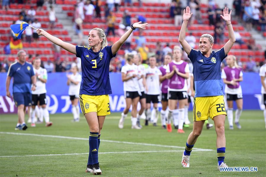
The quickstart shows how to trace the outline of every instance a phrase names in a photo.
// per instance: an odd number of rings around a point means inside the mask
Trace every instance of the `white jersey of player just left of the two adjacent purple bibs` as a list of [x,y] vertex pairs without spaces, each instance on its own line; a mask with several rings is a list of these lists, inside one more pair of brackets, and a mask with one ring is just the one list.
[[157,68],[150,66],[145,69],[146,85],[148,87],[148,95],[159,95],[161,93],[159,76],[162,72]]

